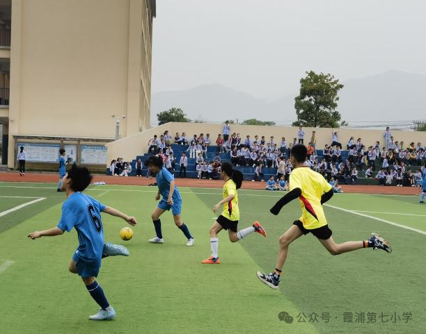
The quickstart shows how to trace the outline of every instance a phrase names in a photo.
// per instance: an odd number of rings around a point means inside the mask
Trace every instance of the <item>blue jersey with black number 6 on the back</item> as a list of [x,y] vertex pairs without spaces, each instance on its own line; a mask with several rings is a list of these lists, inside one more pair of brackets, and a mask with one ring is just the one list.
[[90,196],[74,192],[63,202],[58,228],[70,232],[74,227],[79,237],[79,247],[74,256],[100,267],[104,249],[104,229],[100,212],[105,206]]

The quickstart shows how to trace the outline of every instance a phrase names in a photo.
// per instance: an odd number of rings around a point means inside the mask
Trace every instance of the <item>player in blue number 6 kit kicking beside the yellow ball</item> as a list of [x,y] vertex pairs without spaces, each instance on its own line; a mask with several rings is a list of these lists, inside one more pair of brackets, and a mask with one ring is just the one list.
[[[102,258],[114,255],[129,255],[123,246],[104,244],[104,228],[102,226],[101,212],[123,218],[130,225],[136,225],[136,219],[124,213],[104,206],[82,191],[90,184],[92,176],[86,167],[72,165],[72,168],[63,177],[62,190],[67,194],[67,200],[62,206],[62,216],[58,226],[45,231],[35,231],[28,237],[53,237],[61,235],[64,231],[70,232],[74,227],[79,237],[79,247],[68,269],[73,274],[79,274],[90,296],[100,306],[96,315],[91,315],[90,320],[109,320],[116,317],[116,311],[111,307],[105,297],[102,287],[97,283]],[[127,253],[125,252],[127,251]]]

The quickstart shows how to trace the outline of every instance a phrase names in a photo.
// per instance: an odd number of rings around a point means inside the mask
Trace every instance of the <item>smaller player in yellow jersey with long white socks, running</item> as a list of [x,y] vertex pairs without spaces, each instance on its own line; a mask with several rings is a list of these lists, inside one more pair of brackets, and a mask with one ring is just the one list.
[[223,212],[217,217],[216,222],[214,222],[210,228],[210,247],[212,248],[212,256],[201,261],[201,263],[206,265],[220,263],[219,256],[217,255],[217,249],[219,248],[217,234],[223,229],[228,230],[230,242],[238,242],[253,232],[260,233],[264,237],[267,235],[258,222],[255,222],[253,226],[243,228],[237,232],[239,221],[237,189],[241,187],[244,176],[242,172],[235,170],[230,162],[222,162],[221,177],[223,181],[225,181],[223,185],[223,199],[214,206],[213,212],[216,212],[220,206],[223,206]]

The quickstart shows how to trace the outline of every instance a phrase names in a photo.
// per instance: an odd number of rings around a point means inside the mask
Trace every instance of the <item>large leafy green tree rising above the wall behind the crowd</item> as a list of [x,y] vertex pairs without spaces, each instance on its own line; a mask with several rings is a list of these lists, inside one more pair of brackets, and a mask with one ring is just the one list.
[[293,126],[320,128],[338,128],[345,126],[340,122],[342,116],[338,107],[338,92],[343,88],[338,79],[331,74],[306,72],[300,79],[300,94],[294,98],[297,121]]

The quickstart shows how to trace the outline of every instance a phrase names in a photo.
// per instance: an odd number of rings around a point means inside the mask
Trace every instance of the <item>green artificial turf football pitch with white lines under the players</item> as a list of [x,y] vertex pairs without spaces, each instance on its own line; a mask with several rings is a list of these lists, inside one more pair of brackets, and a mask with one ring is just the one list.
[[[299,203],[274,216],[269,208],[283,193],[239,190],[239,228],[258,220],[268,236],[253,233],[231,244],[219,234],[221,265],[209,266],[200,260],[210,256],[212,206],[221,190],[180,190],[194,247],[185,246],[167,213],[161,217],[165,243],[147,242],[155,235],[156,187],[94,185],[86,191],[139,222],[134,238],[123,242],[118,231],[125,222],[103,216],[106,241],[125,244],[131,255],[102,262],[98,281],[117,318],[90,322],[97,305],[68,272],[77,234],[26,237],[56,226],[65,195],[52,183],[0,183],[0,333],[424,333],[426,206],[418,197],[336,194],[325,207],[334,240],[365,240],[374,231],[393,253],[361,249],[330,256],[307,235],[290,246],[280,289],[271,290],[255,273],[274,269],[278,237],[299,218]],[[280,312],[293,322],[281,322]]]

